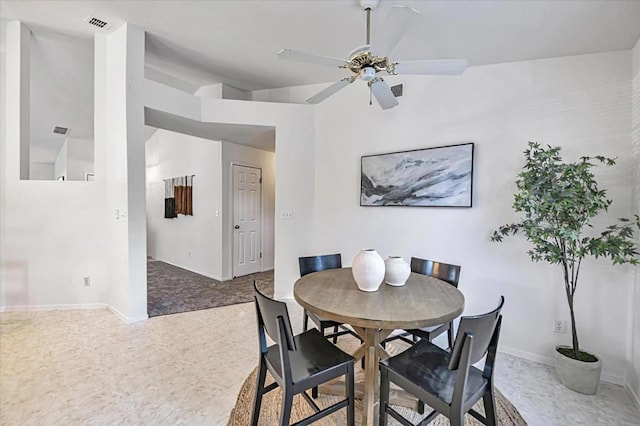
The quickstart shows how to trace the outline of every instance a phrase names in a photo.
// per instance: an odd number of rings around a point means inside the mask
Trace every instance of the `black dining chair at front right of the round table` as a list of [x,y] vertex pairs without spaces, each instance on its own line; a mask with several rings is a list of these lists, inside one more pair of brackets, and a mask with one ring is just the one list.
[[[500,337],[504,297],[491,312],[460,318],[451,352],[420,340],[411,348],[380,362],[380,426],[390,415],[404,426],[413,426],[389,403],[389,386],[394,383],[430,406],[433,411],[422,424],[439,414],[452,426],[464,425],[468,412],[485,425],[497,425],[493,371]],[[473,366],[485,358],[482,370]],[[482,398],[485,416],[472,407]]]

